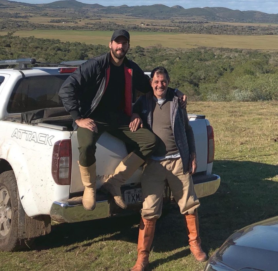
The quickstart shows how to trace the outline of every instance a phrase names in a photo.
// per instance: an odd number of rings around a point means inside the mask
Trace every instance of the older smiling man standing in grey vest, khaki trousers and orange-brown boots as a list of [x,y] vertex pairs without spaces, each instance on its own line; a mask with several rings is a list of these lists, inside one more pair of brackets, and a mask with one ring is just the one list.
[[141,96],[133,106],[134,120],[130,126],[137,130],[143,124],[153,131],[158,138],[158,147],[147,160],[142,173],[144,202],[139,227],[138,259],[132,271],[143,271],[149,264],[166,180],[184,216],[192,254],[200,262],[207,258],[200,246],[197,216],[200,203],[191,177],[197,169],[194,135],[186,110],[179,105],[178,97],[168,87],[169,83],[170,78],[164,67],[153,69],[150,79],[153,93]]

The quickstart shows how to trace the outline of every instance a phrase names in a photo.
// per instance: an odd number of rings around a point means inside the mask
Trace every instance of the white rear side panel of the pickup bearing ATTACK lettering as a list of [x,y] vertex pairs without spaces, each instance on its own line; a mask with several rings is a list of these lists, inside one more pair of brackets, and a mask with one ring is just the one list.
[[26,214],[49,214],[53,201],[69,196],[69,186],[54,182],[51,164],[54,142],[68,139],[70,133],[9,121],[0,121],[0,131],[4,131],[0,158],[7,160],[14,171]]

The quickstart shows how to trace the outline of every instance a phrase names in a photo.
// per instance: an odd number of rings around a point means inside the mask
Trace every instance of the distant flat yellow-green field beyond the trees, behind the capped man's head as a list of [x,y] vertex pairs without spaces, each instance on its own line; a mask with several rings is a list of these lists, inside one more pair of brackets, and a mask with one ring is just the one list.
[[[6,35],[7,32],[0,32]],[[78,41],[87,44],[108,45],[112,31],[83,31],[83,30],[21,30],[14,33],[21,37],[34,36],[44,39],[60,39],[61,41]],[[149,33],[130,32],[131,46],[148,47],[162,45],[170,48],[196,47],[227,47],[258,50],[278,50],[277,36],[235,36],[209,34],[176,34],[176,33]]]

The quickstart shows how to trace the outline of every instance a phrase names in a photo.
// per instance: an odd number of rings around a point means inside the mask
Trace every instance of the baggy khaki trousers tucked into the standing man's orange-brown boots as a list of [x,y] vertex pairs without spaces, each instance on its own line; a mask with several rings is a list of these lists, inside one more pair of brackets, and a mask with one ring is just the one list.
[[192,177],[184,174],[181,158],[165,161],[148,159],[142,173],[141,184],[143,208],[141,216],[145,219],[159,218],[162,211],[165,181],[168,181],[181,214],[193,214],[200,202],[195,194]]

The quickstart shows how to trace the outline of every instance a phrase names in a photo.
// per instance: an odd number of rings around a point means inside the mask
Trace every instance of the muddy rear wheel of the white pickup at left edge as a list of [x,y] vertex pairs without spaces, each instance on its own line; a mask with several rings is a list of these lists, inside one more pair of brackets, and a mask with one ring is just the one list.
[[0,250],[19,247],[17,181],[13,171],[0,174]]

